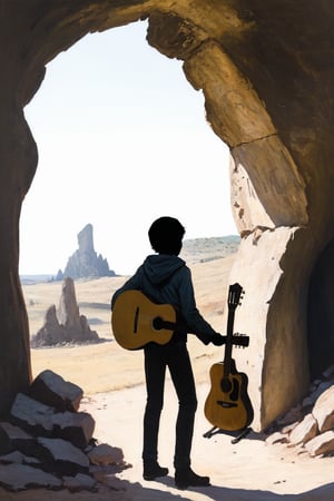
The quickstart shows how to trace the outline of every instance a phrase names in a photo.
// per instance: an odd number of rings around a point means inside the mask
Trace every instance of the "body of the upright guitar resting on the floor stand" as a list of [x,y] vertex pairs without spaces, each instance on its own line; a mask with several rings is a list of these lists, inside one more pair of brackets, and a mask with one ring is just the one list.
[[243,430],[253,421],[253,407],[247,394],[248,377],[236,371],[234,361],[226,380],[223,373],[224,362],[210,369],[212,386],[205,402],[205,416],[220,430]]

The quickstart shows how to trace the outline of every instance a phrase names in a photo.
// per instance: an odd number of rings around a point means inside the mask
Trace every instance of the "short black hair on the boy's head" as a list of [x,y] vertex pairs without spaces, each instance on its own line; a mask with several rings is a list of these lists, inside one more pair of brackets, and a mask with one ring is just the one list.
[[148,238],[154,250],[159,254],[178,255],[186,230],[174,217],[159,217],[149,230]]

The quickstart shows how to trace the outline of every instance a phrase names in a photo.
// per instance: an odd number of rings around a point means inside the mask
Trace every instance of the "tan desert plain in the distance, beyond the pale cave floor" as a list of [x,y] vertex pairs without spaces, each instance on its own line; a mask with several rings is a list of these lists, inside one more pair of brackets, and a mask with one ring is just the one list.
[[[189,252],[184,250],[185,258]],[[233,262],[233,254],[213,259],[212,248],[205,252],[193,252],[191,273],[197,305],[203,315],[217,331],[224,331],[220,325],[222,313],[226,302],[226,283]],[[187,258],[188,262],[188,258]],[[98,332],[100,344],[68,345],[32,350],[33,376],[48,367],[59,372],[62,377],[76,382],[86,394],[122,390],[144,382],[141,352],[121,350],[114,341],[110,326],[110,298],[114,292],[125,282],[126,277],[102,277],[99,279],[76,281],[76,296],[80,308],[90,324]],[[61,282],[45,282],[23,286],[27,303],[30,334],[33,335],[43,323],[47,308],[59,304]],[[189,344],[196,350],[198,342],[189,336]],[[202,346],[197,346],[203,352]],[[207,377],[206,371],[216,348],[206,347],[205,354],[195,355],[194,370],[199,382]],[[220,355],[222,356],[222,355]],[[196,370],[196,366],[198,369]],[[200,375],[202,373],[205,373]],[[89,377],[87,377],[89,375]]]

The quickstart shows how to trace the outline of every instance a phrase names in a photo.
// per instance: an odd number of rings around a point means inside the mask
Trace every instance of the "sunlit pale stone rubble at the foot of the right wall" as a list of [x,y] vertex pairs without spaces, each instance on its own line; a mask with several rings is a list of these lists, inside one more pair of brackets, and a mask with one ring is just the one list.
[[334,455],[334,365],[311,393],[268,430],[267,444],[285,443],[311,456]]

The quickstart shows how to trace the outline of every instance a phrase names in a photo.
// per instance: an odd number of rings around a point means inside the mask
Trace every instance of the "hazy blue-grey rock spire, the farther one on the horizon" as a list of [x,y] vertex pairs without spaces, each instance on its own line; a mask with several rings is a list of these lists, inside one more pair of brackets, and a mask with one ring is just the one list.
[[99,276],[115,276],[109,269],[108,261],[94,248],[92,225],[88,224],[78,233],[79,248],[69,257],[65,272],[58,272],[57,279],[63,277],[86,278]]

